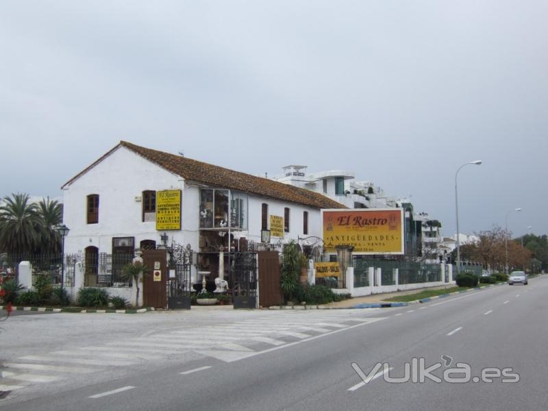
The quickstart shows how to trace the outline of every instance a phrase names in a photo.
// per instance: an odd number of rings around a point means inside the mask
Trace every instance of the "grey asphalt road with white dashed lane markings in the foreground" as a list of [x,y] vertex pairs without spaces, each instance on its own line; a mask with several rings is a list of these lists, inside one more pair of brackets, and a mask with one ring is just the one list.
[[[230,362],[173,360],[162,369],[5,403],[2,409],[545,411],[547,294],[548,277],[540,277],[528,286],[495,286],[403,308],[362,310],[364,321],[351,327],[244,353]],[[426,367],[440,363],[432,375],[442,382],[427,377],[424,383],[389,383],[380,369],[365,384],[351,365],[369,374],[382,362],[389,377],[403,378],[405,364],[421,358]],[[458,363],[460,373],[449,373],[446,380],[444,371]],[[469,364],[469,376],[461,363]],[[502,382],[504,375],[493,368],[506,369],[506,376],[517,373],[519,381]],[[493,382],[473,382],[482,370]],[[451,376],[470,381],[450,382]]]

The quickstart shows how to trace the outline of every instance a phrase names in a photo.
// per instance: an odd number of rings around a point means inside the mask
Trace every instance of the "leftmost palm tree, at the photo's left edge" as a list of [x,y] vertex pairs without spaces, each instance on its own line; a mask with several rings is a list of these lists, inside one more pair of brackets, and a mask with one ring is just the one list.
[[27,194],[4,197],[0,206],[0,249],[7,253],[35,253],[40,249],[40,217]]

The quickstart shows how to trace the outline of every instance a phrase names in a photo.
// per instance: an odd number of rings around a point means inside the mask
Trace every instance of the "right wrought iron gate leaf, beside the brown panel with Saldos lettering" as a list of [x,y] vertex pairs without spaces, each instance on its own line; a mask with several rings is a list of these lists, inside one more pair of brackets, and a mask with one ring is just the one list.
[[230,279],[234,308],[256,308],[257,253],[255,251],[232,253]]

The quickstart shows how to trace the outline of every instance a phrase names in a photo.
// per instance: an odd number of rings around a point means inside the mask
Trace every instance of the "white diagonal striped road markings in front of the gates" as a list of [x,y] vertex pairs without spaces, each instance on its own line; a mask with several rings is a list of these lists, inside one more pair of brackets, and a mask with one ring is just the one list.
[[264,316],[220,325],[174,327],[144,336],[113,339],[101,345],[60,347],[0,364],[0,391],[67,381],[77,375],[101,373],[113,367],[138,366],[152,361],[155,366],[161,366],[162,360],[173,362],[174,356],[184,353],[233,362],[382,319],[361,316],[358,310],[267,312]]

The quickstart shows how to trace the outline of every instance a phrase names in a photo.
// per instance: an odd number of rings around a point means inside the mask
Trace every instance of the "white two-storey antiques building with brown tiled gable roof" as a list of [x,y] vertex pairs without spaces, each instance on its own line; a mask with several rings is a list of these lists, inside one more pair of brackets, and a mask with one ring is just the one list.
[[[100,265],[103,255],[114,258],[175,243],[210,253],[198,270],[211,272],[213,278],[219,267],[227,269],[219,261],[220,250],[261,242],[266,230],[271,230],[271,242],[278,245],[321,236],[320,209],[343,207],[304,188],[124,141],[62,190],[64,224],[71,230],[65,251],[82,251],[88,266]],[[164,190],[180,196],[175,209],[158,208],[163,222],[171,223],[169,229],[157,226],[157,201]],[[280,225],[278,232],[271,227],[273,219]],[[195,271],[192,277],[196,278]],[[97,283],[101,279],[96,271],[86,273],[85,285]]]

